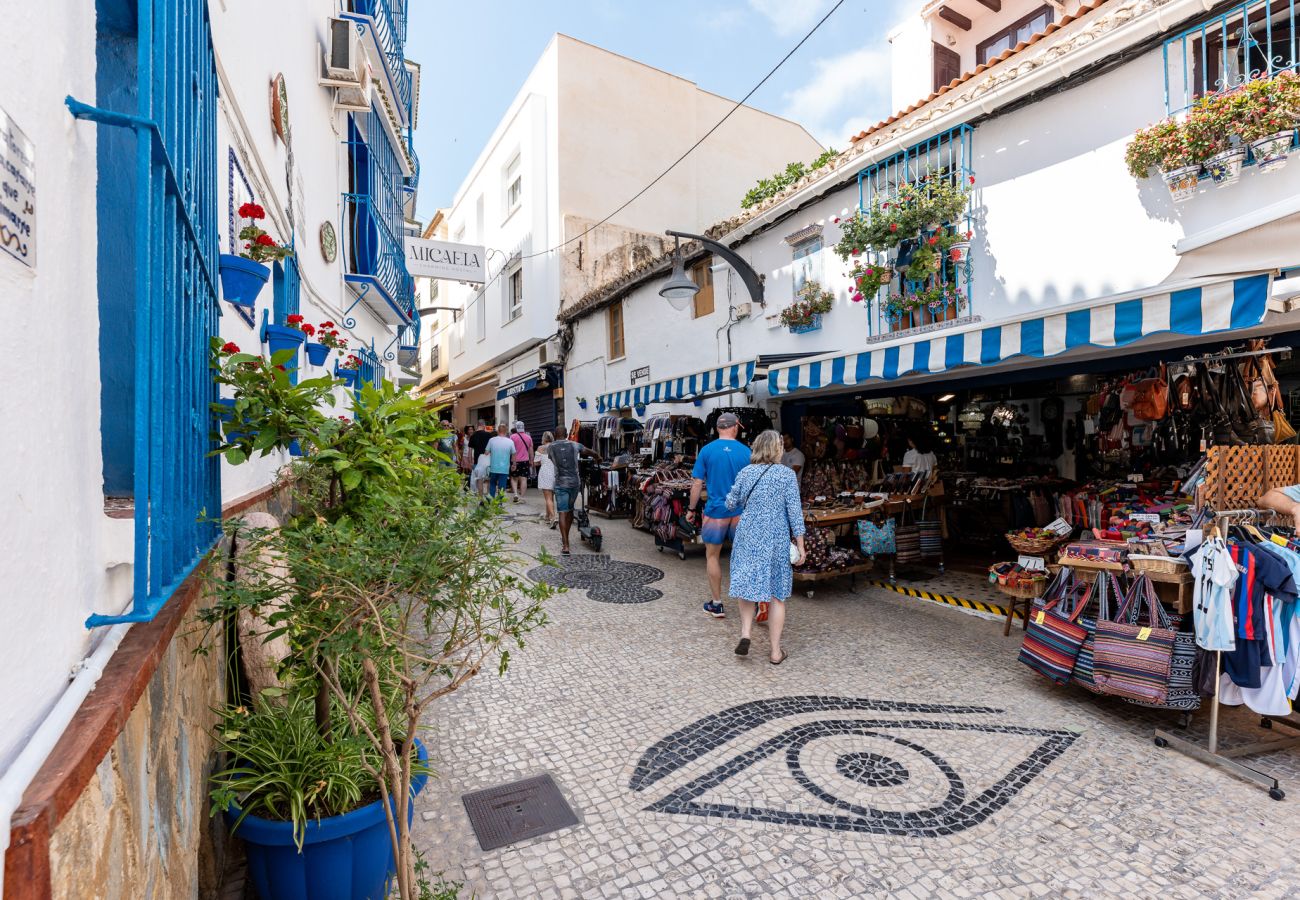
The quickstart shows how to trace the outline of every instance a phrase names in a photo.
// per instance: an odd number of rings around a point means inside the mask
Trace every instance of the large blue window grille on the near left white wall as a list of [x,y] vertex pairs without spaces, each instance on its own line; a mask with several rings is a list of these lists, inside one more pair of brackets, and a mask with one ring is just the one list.
[[217,334],[217,73],[205,0],[100,0],[96,148],[104,485],[134,501],[130,613],[152,619],[220,532],[211,433]]

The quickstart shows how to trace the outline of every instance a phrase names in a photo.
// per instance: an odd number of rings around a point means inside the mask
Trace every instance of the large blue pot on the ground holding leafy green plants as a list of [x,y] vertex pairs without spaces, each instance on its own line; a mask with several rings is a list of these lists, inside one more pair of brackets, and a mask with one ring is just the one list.
[[[421,763],[429,753],[415,743]],[[428,775],[411,779],[412,799],[424,789]],[[407,806],[407,821],[415,804]],[[239,818],[231,806],[226,819]],[[303,849],[294,844],[294,825],[248,815],[235,830],[244,841],[248,875],[257,896],[274,900],[378,900],[389,896],[389,880],[396,870],[389,839],[384,801],[307,822]]]

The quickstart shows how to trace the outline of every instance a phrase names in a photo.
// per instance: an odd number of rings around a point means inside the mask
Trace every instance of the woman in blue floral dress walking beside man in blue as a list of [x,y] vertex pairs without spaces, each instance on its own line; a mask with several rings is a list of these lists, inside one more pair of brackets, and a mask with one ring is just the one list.
[[781,649],[785,600],[790,596],[790,538],[798,545],[796,566],[803,562],[803,510],[794,470],[781,466],[781,436],[766,430],[750,447],[750,463],[727,494],[728,510],[744,510],[732,541],[731,588],[740,601],[737,655],[749,654],[749,637],[758,603],[768,602],[767,636],[774,666],[789,654]]

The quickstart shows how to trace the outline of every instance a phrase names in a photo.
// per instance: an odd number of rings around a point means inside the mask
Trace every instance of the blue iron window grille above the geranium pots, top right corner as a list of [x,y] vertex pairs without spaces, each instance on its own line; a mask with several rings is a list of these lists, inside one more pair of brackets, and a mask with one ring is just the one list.
[[1297,0],[1251,0],[1165,42],[1165,109],[1300,65]]

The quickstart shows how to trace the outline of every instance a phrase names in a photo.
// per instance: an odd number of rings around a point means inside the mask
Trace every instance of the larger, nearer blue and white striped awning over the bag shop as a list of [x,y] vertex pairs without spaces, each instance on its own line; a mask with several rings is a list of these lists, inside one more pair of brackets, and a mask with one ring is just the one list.
[[1271,274],[1197,278],[1161,291],[1136,291],[997,325],[972,325],[915,336],[870,350],[774,365],[774,397],[835,385],[890,381],[967,365],[994,365],[1015,356],[1046,359],[1076,347],[1122,347],[1160,333],[1190,337],[1253,328],[1264,321]]

